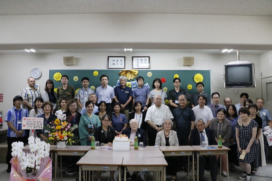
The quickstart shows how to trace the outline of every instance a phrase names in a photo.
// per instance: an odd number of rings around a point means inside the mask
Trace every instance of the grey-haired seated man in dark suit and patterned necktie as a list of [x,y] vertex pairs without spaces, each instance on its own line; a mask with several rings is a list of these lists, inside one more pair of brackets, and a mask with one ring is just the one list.
[[[206,141],[207,145],[217,145],[214,133],[211,129],[205,128],[205,123],[202,119],[197,119],[194,124],[196,128],[191,130],[190,145],[200,145],[202,141]],[[204,169],[206,162],[211,166],[211,179],[217,181],[217,159],[215,155],[199,155],[199,181],[203,181]]]

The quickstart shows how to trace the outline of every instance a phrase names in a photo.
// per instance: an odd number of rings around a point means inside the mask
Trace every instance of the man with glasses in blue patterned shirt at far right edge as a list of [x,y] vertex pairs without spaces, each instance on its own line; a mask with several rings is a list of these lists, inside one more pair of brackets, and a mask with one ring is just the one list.
[[[269,110],[264,109],[264,99],[257,98],[256,104],[258,106],[258,110],[260,112],[260,117],[262,118],[262,132],[264,132],[264,127],[269,126],[272,127],[272,119]],[[264,136],[264,154],[265,154],[265,160],[268,161],[268,143],[267,139]]]

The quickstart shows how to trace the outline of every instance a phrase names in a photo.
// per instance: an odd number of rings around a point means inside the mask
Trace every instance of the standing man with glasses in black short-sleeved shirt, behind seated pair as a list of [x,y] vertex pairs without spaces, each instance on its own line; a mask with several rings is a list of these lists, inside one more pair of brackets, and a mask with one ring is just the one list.
[[[189,145],[189,139],[191,135],[191,130],[194,129],[194,111],[186,106],[187,103],[187,96],[181,94],[178,97],[179,107],[174,109],[173,113],[173,127],[176,126],[177,129],[177,136],[178,136],[178,143],[180,146]],[[188,172],[188,157],[181,157],[183,161],[181,166],[184,166],[185,172]]]

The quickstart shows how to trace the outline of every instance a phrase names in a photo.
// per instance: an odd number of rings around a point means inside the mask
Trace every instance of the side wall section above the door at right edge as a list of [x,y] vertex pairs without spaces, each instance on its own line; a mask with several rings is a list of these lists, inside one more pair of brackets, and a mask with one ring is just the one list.
[[272,76],[272,51],[260,55],[262,77]]

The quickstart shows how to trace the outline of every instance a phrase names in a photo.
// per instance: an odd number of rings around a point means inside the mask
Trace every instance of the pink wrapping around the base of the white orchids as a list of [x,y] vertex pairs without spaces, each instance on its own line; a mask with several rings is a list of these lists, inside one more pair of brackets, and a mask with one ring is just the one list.
[[52,160],[50,157],[43,158],[40,169],[31,173],[21,170],[20,160],[16,157],[13,157],[10,163],[10,181],[52,181]]

